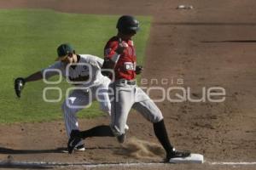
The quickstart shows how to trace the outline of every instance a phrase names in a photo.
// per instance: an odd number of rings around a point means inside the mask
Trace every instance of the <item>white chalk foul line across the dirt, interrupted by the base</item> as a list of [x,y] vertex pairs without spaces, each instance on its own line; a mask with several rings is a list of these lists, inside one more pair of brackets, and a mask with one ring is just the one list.
[[[209,165],[230,165],[230,166],[251,166],[256,165],[253,161],[241,162],[225,162],[225,161],[205,161]],[[158,166],[165,162],[125,162],[125,163],[61,163],[61,162],[46,162],[46,161],[0,161],[0,167],[138,167],[138,166]]]

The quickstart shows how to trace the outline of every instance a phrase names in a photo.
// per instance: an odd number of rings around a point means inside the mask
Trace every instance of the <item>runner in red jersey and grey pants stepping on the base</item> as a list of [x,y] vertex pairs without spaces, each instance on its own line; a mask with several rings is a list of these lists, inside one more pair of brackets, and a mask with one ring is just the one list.
[[[136,51],[131,37],[139,30],[139,22],[133,16],[124,15],[119,18],[117,29],[117,36],[110,38],[104,48],[105,59],[102,66],[103,69],[113,69],[114,72],[110,75],[114,82],[109,87],[113,89],[113,94],[109,94],[112,100],[110,126],[94,127],[83,132],[73,131],[68,142],[70,153],[80,139],[91,136],[116,136],[120,143],[124,142],[125,124],[129,111],[133,108],[153,123],[154,133],[166,150],[166,161],[189,156],[189,152],[174,149],[168,139],[161,111],[152,99],[137,87],[136,75],[143,70],[143,67],[137,65]],[[108,74],[105,71],[102,73]]]

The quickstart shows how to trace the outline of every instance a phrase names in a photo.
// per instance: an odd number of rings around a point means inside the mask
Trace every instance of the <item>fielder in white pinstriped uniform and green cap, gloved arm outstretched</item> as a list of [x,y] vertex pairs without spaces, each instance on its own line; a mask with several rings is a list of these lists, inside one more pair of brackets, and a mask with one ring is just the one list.
[[[35,72],[26,78],[15,79],[15,92],[20,97],[21,89],[26,82],[33,82],[43,78],[48,79],[57,74],[67,78],[75,88],[63,102],[61,109],[64,115],[67,136],[72,130],[79,129],[76,114],[85,106],[97,99],[102,111],[110,115],[111,104],[108,98],[108,77],[102,76],[101,67],[103,59],[90,54],[75,54],[70,44],[64,43],[57,48],[58,58],[55,64],[42,71]],[[84,144],[80,141],[76,150],[84,150]]]

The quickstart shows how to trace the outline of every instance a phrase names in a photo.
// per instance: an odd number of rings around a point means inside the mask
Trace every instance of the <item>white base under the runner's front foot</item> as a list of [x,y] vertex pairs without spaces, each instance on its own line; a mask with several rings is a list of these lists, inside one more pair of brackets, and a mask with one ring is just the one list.
[[171,158],[170,163],[203,163],[204,156],[201,154],[190,154],[190,156],[185,158]]

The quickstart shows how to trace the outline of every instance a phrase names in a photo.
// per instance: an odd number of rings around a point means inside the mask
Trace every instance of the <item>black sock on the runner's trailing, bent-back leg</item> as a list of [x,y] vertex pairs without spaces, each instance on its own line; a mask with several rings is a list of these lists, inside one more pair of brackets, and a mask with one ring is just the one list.
[[101,137],[101,136],[113,137],[114,135],[109,126],[102,125],[102,126],[92,127],[89,130],[81,131],[79,136],[82,139],[86,139],[88,137]]

